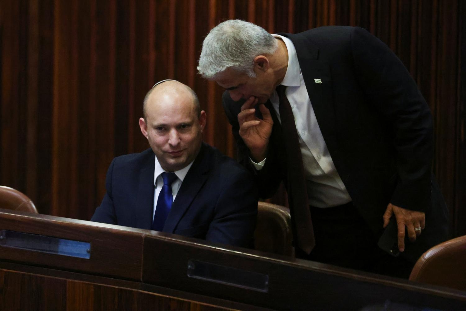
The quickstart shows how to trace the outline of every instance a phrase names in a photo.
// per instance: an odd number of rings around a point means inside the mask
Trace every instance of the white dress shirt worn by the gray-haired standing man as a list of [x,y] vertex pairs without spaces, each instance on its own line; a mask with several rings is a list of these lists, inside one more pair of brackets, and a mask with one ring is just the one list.
[[[309,205],[315,207],[334,207],[348,203],[351,201],[351,197],[342,179],[336,172],[332,157],[315,118],[308,90],[302,77],[295,46],[286,37],[281,35],[274,35],[274,37],[280,37],[285,42],[288,50],[288,68],[281,85],[287,86],[285,95],[288,98],[293,116],[295,117],[308,189]],[[280,100],[276,91],[270,97],[270,102],[281,123],[278,108]],[[260,163],[254,163],[253,161],[254,167],[260,170],[265,160]]]

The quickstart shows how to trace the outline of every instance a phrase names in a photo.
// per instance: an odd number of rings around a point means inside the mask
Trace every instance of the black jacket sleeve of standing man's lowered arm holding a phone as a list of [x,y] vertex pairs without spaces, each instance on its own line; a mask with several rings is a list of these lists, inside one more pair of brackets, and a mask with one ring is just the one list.
[[433,125],[429,106],[398,57],[362,28],[351,31],[356,78],[368,102],[391,124],[397,184],[390,202],[425,211],[430,205]]

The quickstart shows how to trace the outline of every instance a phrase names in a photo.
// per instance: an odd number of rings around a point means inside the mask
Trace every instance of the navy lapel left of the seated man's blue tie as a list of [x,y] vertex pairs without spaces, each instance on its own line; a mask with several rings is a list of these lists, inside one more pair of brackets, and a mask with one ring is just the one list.
[[147,159],[139,173],[139,184],[134,210],[136,228],[151,229],[154,213],[154,167],[155,154]]

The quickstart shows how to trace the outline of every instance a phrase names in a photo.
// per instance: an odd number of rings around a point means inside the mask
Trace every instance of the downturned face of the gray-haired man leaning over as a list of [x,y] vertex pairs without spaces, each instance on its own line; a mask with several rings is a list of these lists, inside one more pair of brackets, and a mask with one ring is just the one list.
[[274,81],[268,72],[256,70],[255,72],[256,77],[253,78],[245,73],[227,68],[215,76],[213,80],[226,89],[235,102],[253,96],[259,99],[259,103],[264,104],[275,90]]

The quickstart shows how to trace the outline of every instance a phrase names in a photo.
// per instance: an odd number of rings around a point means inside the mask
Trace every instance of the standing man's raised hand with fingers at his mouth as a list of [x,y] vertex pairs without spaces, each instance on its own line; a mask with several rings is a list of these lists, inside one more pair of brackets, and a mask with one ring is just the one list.
[[270,111],[264,104],[259,105],[262,113],[262,119],[255,116],[254,106],[258,99],[251,96],[241,106],[241,112],[238,114],[238,123],[240,124],[240,136],[251,152],[251,158],[260,162],[266,158],[267,145],[272,133],[274,120]]

